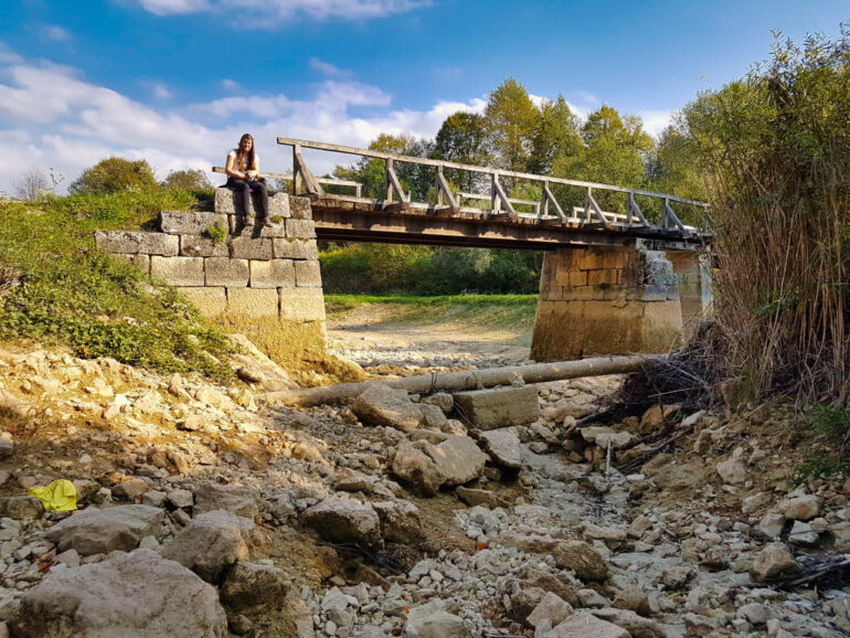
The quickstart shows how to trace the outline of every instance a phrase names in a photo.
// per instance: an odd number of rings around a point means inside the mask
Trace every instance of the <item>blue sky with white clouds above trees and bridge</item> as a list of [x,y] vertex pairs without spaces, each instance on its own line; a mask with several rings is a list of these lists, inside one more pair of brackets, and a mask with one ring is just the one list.
[[[658,134],[699,91],[769,54],[773,31],[836,35],[842,0],[2,0],[0,191],[26,170],[66,189],[109,156],[223,164],[243,132],[366,146],[433,137],[507,77],[580,115],[602,104]],[[307,160],[323,172],[344,158]],[[211,174],[212,177],[212,174]],[[214,183],[222,180],[213,178]]]

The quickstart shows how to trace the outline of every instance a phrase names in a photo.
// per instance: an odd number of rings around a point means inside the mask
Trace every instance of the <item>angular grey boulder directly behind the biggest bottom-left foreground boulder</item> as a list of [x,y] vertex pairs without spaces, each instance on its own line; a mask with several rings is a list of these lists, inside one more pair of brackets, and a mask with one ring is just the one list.
[[205,512],[192,519],[159,553],[217,584],[231,565],[248,557],[244,534],[253,527],[253,521],[233,512]]

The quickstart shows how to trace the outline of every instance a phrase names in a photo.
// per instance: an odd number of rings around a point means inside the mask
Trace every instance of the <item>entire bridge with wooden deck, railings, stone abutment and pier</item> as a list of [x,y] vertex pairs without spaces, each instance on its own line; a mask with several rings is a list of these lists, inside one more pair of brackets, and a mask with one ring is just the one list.
[[[269,226],[245,226],[251,211],[219,188],[213,211],[162,211],[158,232],[98,231],[96,244],[177,286],[203,313],[278,351],[281,343],[304,349],[325,334],[317,237],[543,251],[531,348],[538,361],[666,351],[711,304],[704,249],[710,237],[673,211],[704,211],[702,202],[318,141],[277,141],[293,149],[293,171],[264,176],[290,181],[293,194],[269,198]],[[383,161],[383,196],[363,196],[363,185],[352,180],[317,178],[304,149]],[[397,169],[405,164],[421,174],[433,171],[433,201],[414,201],[404,189]],[[460,191],[449,181],[465,173],[476,177],[467,183],[489,192]],[[508,187],[520,182],[534,185],[540,199],[510,196]],[[620,198],[625,213],[603,210],[599,201],[612,198]],[[213,236],[214,227],[227,231],[226,241],[214,238],[222,235]]]

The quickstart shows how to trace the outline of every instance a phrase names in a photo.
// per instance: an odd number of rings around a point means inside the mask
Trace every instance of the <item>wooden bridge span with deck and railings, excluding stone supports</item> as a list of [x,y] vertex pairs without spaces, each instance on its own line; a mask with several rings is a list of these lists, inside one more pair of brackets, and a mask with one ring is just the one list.
[[[636,238],[652,240],[659,245],[692,247],[706,240],[705,233],[684,225],[673,211],[673,205],[702,211],[706,204],[670,194],[304,139],[279,137],[277,142],[291,147],[293,172],[263,174],[291,182],[295,195],[310,198],[319,240],[536,251],[556,251],[565,246],[627,246]],[[317,178],[304,159],[304,149],[382,160],[385,195],[364,198],[362,184],[355,181]],[[397,173],[397,169],[405,164],[434,171],[436,201],[412,200]],[[224,172],[221,167],[213,170]],[[455,190],[447,179],[448,171],[482,179],[489,192]],[[541,199],[509,196],[506,191],[509,180],[536,185]],[[353,192],[330,194],[325,187]],[[583,205],[564,212],[565,206],[559,203],[553,189],[562,191],[562,199],[564,191],[580,192]],[[595,196],[599,192],[621,196],[626,213],[603,211]],[[656,204],[660,224],[647,221],[639,199]],[[470,205],[472,203],[479,205]]]

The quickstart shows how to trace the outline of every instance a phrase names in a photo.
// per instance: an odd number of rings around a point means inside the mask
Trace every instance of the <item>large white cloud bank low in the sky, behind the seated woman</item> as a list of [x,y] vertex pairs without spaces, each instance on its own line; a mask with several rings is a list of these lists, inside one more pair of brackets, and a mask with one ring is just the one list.
[[[83,169],[117,155],[146,159],[161,179],[183,168],[209,171],[222,164],[243,132],[257,140],[263,166],[287,171],[291,151],[277,136],[365,147],[380,132],[432,137],[456,110],[484,110],[482,99],[439,102],[429,109],[392,109],[390,95],[357,82],[326,81],[307,98],[286,95],[229,96],[181,109],[151,107],[81,79],[74,70],[20,62],[0,81],[0,190],[9,190],[21,167],[53,168],[66,188]],[[354,117],[368,106],[376,115]],[[317,173],[357,158],[307,152]],[[221,176],[209,173],[214,182]]]

